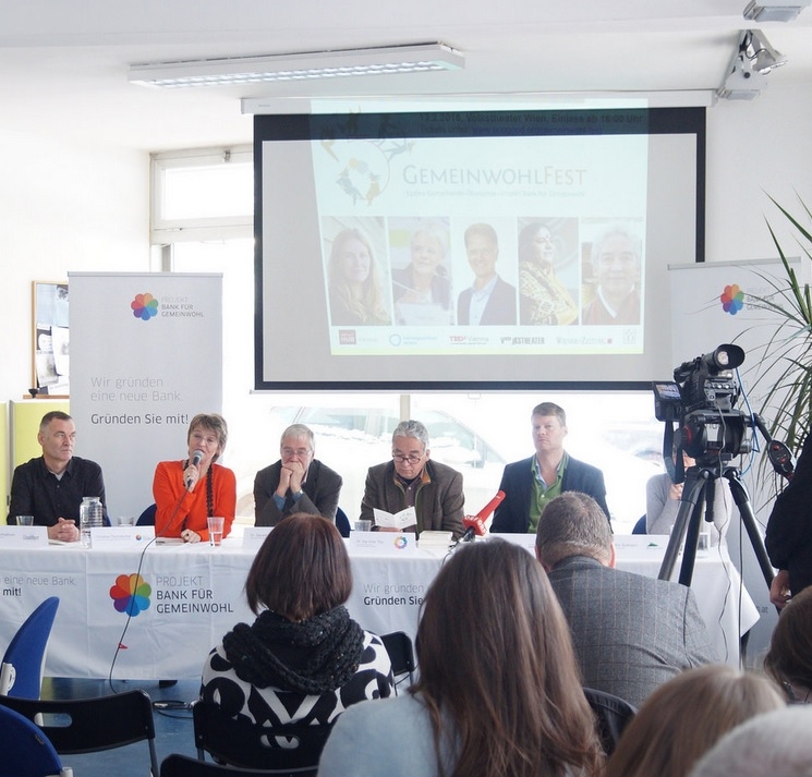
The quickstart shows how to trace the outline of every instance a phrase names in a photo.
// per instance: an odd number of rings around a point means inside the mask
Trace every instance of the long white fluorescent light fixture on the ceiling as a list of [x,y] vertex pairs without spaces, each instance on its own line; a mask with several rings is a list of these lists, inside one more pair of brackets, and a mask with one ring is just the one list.
[[464,62],[460,51],[435,43],[134,64],[130,66],[129,81],[165,88],[228,86],[458,70]]

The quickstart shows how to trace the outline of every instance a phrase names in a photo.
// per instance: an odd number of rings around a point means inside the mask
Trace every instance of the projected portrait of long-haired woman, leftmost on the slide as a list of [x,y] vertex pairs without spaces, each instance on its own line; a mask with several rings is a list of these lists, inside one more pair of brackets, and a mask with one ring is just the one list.
[[327,267],[332,326],[391,324],[369,239],[359,229],[341,230]]

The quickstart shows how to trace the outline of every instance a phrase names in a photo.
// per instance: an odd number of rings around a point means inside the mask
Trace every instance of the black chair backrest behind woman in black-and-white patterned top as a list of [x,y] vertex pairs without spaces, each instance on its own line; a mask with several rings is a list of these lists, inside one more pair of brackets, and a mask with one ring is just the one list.
[[[270,728],[232,718],[216,704],[192,704],[195,746],[213,758],[271,774],[316,774],[332,726],[288,724]],[[299,769],[299,772],[296,772]]]

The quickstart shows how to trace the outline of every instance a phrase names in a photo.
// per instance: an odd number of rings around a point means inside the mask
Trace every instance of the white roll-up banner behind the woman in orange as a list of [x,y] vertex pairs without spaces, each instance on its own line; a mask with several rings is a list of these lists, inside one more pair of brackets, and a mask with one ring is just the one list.
[[222,409],[222,276],[71,272],[74,453],[101,465],[111,520],[154,499],[158,461]]

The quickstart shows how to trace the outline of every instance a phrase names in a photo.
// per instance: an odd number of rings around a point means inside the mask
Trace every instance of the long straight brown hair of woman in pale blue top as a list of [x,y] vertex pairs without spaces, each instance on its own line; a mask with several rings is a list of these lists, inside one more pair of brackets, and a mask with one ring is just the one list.
[[569,628],[526,550],[504,539],[460,547],[428,588],[416,646],[411,692],[428,706],[437,752],[460,743],[451,775],[598,768]]

